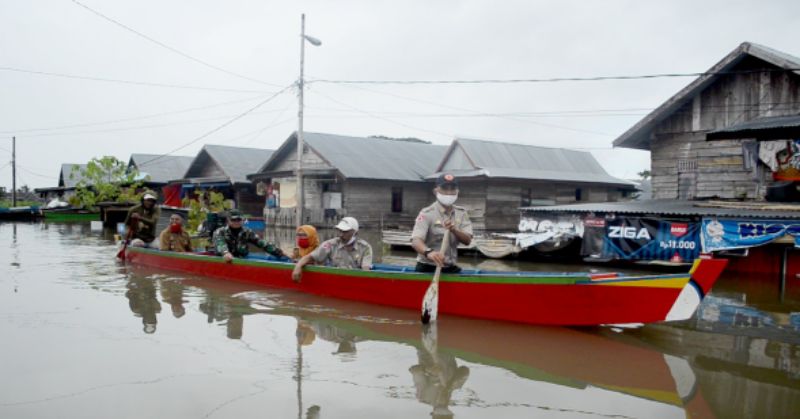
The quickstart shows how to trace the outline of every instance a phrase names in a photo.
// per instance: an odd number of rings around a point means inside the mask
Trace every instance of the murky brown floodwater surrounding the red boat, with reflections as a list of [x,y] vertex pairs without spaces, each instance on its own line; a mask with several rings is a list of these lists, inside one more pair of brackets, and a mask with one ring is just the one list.
[[[428,329],[413,311],[126,266],[114,260],[110,234],[0,223],[0,417],[800,412],[797,279],[781,289],[777,278],[727,275],[693,319],[672,325],[544,328],[443,316]],[[383,253],[411,263],[409,252]]]

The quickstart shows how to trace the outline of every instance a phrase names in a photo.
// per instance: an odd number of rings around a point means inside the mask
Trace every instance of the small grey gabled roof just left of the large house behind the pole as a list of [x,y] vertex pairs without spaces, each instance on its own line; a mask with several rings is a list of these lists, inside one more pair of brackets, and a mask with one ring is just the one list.
[[202,161],[200,156],[206,153],[219,165],[220,169],[231,182],[250,183],[250,181],[247,180],[247,175],[258,171],[258,169],[269,160],[273,152],[273,150],[264,150],[261,148],[206,144],[186,170],[185,176],[197,177],[191,176],[191,174],[194,172],[201,172],[201,168],[197,166],[201,164],[200,162]]

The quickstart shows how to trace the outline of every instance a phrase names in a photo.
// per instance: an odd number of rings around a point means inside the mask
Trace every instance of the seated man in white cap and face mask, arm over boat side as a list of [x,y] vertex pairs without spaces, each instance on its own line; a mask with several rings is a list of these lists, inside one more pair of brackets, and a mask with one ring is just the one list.
[[303,266],[311,262],[347,269],[372,269],[372,246],[358,238],[358,221],[344,217],[336,225],[339,237],[324,241],[316,250],[297,261],[292,279],[300,282]]

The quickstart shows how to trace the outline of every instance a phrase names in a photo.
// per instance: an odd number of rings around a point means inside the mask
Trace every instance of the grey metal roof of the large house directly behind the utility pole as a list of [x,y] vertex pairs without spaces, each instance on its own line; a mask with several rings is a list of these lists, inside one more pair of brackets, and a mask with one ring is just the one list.
[[442,160],[445,146],[304,132],[303,141],[348,179],[419,182]]

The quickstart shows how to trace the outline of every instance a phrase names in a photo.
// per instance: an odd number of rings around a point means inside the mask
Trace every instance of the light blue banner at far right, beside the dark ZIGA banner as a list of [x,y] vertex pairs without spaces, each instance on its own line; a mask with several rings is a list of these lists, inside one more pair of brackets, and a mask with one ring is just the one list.
[[703,251],[761,246],[787,234],[794,237],[795,247],[800,247],[800,221],[704,218]]

